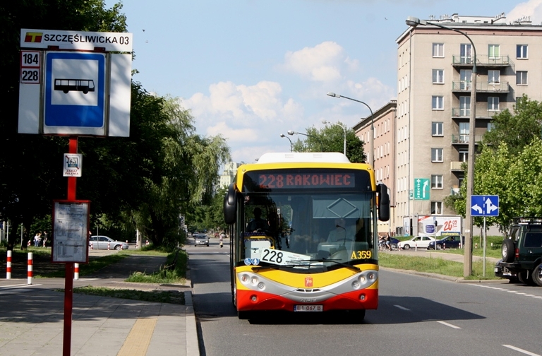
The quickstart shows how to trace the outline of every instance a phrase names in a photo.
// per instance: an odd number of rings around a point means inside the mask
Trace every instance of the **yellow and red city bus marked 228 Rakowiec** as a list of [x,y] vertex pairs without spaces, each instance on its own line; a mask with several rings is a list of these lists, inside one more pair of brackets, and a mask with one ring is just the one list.
[[342,153],[265,153],[239,166],[224,196],[239,319],[345,311],[363,320],[378,307],[377,219],[389,218],[387,186]]

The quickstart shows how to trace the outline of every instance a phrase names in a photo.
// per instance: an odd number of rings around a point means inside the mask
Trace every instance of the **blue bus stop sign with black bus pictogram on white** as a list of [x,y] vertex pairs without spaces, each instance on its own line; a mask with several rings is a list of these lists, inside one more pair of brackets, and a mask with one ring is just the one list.
[[103,127],[105,55],[47,52],[45,59],[45,125]]

